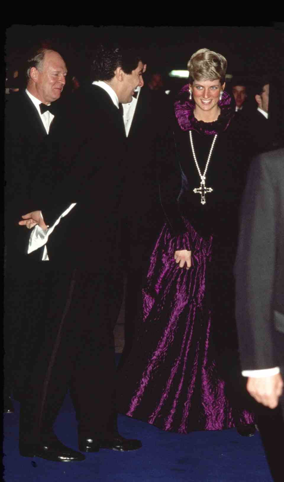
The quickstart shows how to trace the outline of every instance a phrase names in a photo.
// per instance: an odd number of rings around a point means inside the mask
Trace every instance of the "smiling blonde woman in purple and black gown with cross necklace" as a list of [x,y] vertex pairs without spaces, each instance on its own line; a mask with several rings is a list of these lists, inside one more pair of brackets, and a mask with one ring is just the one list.
[[137,338],[118,374],[120,413],[178,433],[241,433],[254,421],[239,396],[234,315],[247,162],[230,134],[235,104],[224,92],[226,66],[208,49],[188,62],[189,83],[159,151],[167,222],[150,258]]

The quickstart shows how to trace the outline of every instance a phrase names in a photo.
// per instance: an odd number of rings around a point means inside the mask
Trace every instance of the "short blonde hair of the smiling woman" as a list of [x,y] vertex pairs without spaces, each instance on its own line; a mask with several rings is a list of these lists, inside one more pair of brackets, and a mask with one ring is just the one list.
[[188,81],[194,80],[216,80],[221,84],[225,81],[227,60],[223,55],[217,54],[209,49],[200,49],[191,55],[187,62],[189,72]]

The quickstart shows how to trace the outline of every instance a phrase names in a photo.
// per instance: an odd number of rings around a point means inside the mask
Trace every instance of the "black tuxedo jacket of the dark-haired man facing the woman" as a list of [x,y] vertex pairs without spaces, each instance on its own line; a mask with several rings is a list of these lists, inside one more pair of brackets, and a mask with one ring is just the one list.
[[127,171],[123,118],[98,86],[73,94],[61,131],[62,147],[34,198],[49,226],[77,203],[49,237],[49,261],[58,267],[111,268],[121,259],[122,195]]

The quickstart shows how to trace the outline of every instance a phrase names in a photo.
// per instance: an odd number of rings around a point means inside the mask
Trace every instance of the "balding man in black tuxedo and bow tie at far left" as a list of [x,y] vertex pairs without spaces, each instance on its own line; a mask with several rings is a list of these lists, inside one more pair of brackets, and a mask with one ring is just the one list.
[[[43,167],[39,152],[55,142],[58,113],[53,106],[61,96],[66,74],[65,62],[57,52],[40,49],[31,53],[26,66],[26,89],[9,96],[5,106],[5,413],[13,411],[12,391],[15,398],[21,397],[33,346],[32,314],[42,308],[45,294],[42,289],[35,299],[37,262],[43,250],[27,259],[28,233],[19,232],[18,219],[23,206],[27,210],[32,207],[31,187],[37,185]],[[42,270],[46,268],[43,266]],[[27,311],[22,309],[23,299],[29,306]],[[31,329],[28,332],[25,328],[23,339],[20,331],[24,326]]]

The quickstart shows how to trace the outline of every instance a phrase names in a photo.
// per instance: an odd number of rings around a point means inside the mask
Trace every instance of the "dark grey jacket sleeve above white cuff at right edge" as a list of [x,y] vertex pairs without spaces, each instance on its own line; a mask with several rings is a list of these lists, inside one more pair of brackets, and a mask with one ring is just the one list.
[[235,262],[236,321],[243,370],[277,366],[273,351],[273,283],[277,189],[269,161],[251,165]]

